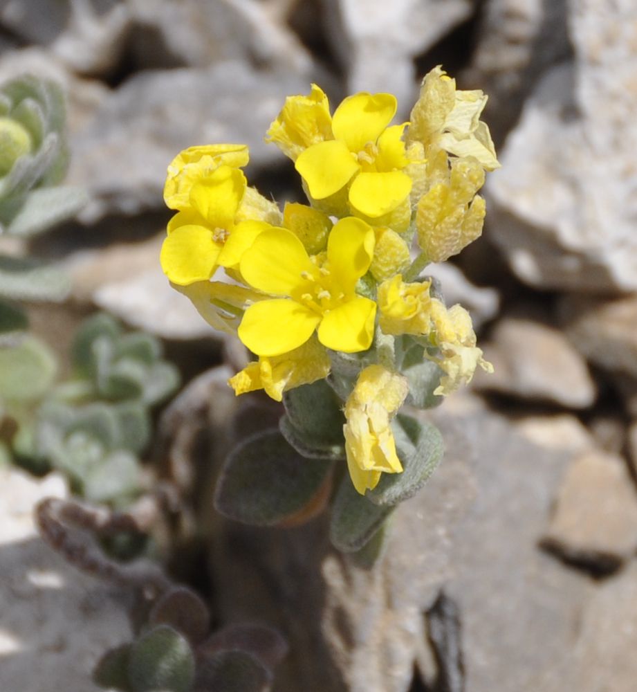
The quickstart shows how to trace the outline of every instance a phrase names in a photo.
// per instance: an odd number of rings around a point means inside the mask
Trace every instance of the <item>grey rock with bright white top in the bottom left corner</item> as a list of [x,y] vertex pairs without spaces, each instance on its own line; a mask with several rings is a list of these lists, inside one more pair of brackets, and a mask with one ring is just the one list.
[[33,507],[66,496],[61,477],[36,480],[3,468],[0,483],[0,689],[97,692],[93,666],[131,636],[124,600],[64,563],[37,535]]

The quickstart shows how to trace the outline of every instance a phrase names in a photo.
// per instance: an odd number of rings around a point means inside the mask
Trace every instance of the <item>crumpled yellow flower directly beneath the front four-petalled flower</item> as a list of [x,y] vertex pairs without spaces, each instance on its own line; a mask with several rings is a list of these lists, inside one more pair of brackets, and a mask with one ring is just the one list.
[[281,401],[283,392],[321,380],[328,376],[329,370],[325,347],[312,337],[280,356],[259,356],[259,361],[244,367],[228,384],[237,395],[263,389],[268,397]]

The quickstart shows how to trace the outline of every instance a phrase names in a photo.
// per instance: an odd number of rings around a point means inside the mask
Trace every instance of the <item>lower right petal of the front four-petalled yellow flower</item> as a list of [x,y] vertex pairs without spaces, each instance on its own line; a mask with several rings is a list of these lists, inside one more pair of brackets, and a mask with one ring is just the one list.
[[366,351],[373,339],[376,303],[357,296],[329,311],[318,329],[319,341],[333,351]]

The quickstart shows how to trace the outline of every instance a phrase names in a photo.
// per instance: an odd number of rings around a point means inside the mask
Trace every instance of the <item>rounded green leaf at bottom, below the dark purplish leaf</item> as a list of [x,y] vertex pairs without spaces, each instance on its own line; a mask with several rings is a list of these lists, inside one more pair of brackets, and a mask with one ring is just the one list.
[[150,630],[131,646],[128,678],[133,692],[190,692],[194,655],[187,639],[167,625]]

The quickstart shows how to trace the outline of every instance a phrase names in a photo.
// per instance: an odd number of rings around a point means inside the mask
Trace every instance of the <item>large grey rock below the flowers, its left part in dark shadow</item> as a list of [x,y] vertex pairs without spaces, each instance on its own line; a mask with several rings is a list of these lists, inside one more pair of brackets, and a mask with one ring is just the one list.
[[537,541],[569,455],[492,413],[461,410],[436,413],[445,458],[394,513],[373,570],[333,552],[325,518],[288,531],[217,525],[221,618],[258,613],[294,643],[281,692],[405,692],[415,661],[433,683],[423,614],[441,588],[459,609],[468,692],[531,692],[541,671],[561,675],[589,585]]

